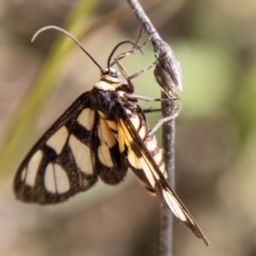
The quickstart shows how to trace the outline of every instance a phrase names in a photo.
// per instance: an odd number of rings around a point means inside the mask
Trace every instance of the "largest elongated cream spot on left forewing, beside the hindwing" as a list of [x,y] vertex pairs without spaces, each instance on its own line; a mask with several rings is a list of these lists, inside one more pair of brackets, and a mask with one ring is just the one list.
[[92,158],[90,155],[90,148],[73,135],[69,138],[69,146],[72,149],[73,157],[79,169],[85,174],[93,174]]

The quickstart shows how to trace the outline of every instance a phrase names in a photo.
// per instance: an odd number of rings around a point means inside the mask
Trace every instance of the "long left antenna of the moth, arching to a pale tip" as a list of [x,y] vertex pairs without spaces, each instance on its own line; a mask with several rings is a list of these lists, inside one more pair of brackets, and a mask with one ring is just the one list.
[[99,69],[101,70],[101,73],[106,73],[106,71],[104,70],[104,68],[102,68],[100,66],[100,64],[93,58],[92,55],[90,55],[90,53],[84,48],[84,46],[79,42],[79,40],[75,37],[73,37],[73,35],[69,32],[67,32],[66,30],[62,29],[61,27],[59,26],[44,26],[42,28],[40,28],[37,32],[35,32],[35,34],[33,35],[32,39],[31,39],[31,42],[33,42],[37,37],[38,35],[41,33],[41,32],[44,32],[46,30],[49,30],[49,29],[54,29],[54,30],[57,30],[59,32],[62,32],[64,33],[68,38],[71,38],[73,40],[73,42],[77,45],[79,45],[79,48],[82,49],[84,51],[84,53],[86,55],[89,56],[90,60],[93,61],[97,67],[99,67]]

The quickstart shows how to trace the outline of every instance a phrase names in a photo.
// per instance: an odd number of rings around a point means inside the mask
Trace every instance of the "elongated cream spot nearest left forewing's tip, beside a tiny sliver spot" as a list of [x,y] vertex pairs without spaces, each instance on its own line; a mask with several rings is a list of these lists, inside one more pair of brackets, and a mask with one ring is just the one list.
[[32,156],[31,160],[28,162],[27,171],[26,171],[26,181],[25,181],[26,185],[31,187],[34,185],[37,174],[38,174],[38,168],[42,158],[43,158],[43,152],[42,150],[38,150]]

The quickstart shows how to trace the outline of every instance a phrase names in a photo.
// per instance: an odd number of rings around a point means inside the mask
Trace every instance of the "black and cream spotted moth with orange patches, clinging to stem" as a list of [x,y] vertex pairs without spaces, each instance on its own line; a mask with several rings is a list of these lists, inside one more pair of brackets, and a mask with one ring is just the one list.
[[16,198],[42,205],[59,203],[90,189],[98,178],[118,184],[131,167],[146,189],[208,245],[195,219],[166,182],[162,153],[149,133],[131,79],[117,58],[125,79],[110,67],[114,50],[108,67],[102,68],[77,39],[59,27],[46,26],[35,36],[46,29],[64,32],[79,44],[99,67],[100,79],[67,108],[22,161],[15,175]]

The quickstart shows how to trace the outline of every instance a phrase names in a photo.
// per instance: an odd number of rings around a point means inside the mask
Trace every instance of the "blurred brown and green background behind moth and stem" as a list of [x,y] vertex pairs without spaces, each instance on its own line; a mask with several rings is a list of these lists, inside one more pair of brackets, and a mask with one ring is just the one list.
[[[253,256],[256,2],[141,3],[182,66],[176,190],[211,243],[206,247],[175,220],[174,255]],[[0,0],[0,255],[157,255],[160,202],[131,172],[119,186],[99,182],[55,206],[15,200],[12,182],[20,161],[99,78],[97,67],[59,32],[30,42],[47,25],[72,32],[102,67],[115,44],[135,40],[140,30],[125,0]],[[149,44],[143,53],[122,61],[128,73],[154,61]],[[137,94],[160,96],[153,69],[133,82]],[[148,114],[151,127],[159,118],[160,113]]]

